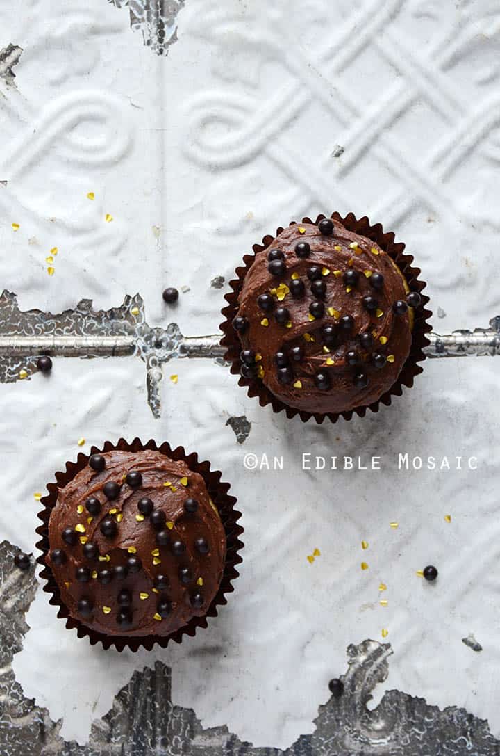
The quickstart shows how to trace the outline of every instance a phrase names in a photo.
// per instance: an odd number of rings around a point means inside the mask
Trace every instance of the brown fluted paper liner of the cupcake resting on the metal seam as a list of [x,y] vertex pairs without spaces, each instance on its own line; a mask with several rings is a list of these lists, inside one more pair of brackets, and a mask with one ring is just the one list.
[[[315,223],[317,225],[319,221],[325,217],[326,215],[320,214],[316,218],[316,221],[312,221],[310,218],[302,218],[301,223]],[[414,309],[412,346],[409,355],[406,358],[405,363],[403,364],[400,375],[397,377],[397,380],[393,383],[393,385],[390,386],[390,389],[384,392],[384,394],[382,394],[377,401],[372,402],[372,404],[363,404],[359,407],[354,407],[353,410],[341,413],[328,412],[323,414],[317,412],[305,412],[284,404],[282,401],[276,398],[276,396],[273,395],[273,393],[271,393],[270,390],[267,389],[267,386],[264,386],[264,383],[262,383],[262,381],[258,378],[247,379],[243,378],[242,376],[239,377],[239,386],[247,387],[248,396],[257,396],[261,407],[265,407],[267,404],[270,404],[271,407],[273,407],[274,412],[285,411],[286,417],[289,418],[298,415],[304,423],[306,423],[307,420],[310,420],[311,417],[316,420],[316,423],[323,423],[323,420],[325,420],[326,417],[331,420],[332,423],[336,423],[339,417],[344,417],[344,420],[350,420],[353,417],[353,414],[364,417],[366,415],[366,410],[378,412],[381,404],[388,406],[392,401],[393,396],[402,395],[403,386],[407,386],[410,389],[413,386],[413,380],[415,379],[415,376],[423,371],[423,367],[421,367],[421,365],[419,365],[418,363],[424,361],[425,359],[423,349],[424,346],[427,346],[427,344],[429,344],[429,339],[427,339],[427,336],[425,336],[425,334],[429,333],[432,330],[431,325],[427,322],[432,315],[432,312],[426,309],[427,302],[429,302],[429,297],[421,293],[422,290],[427,286],[427,283],[419,278],[421,273],[420,268],[413,267],[413,256],[406,255],[404,253],[405,245],[402,242],[395,241],[394,232],[384,232],[380,223],[371,225],[366,215],[358,220],[352,212],[349,212],[344,218],[338,212],[333,212],[330,217],[335,221],[341,222],[344,228],[347,228],[347,231],[353,231],[356,234],[360,234],[360,236],[364,236],[378,243],[378,246],[380,246],[381,249],[384,249],[384,252],[386,252],[387,255],[389,255],[394,260],[398,268],[400,268],[400,271],[405,277],[406,283],[409,286],[409,290],[418,292],[421,295],[421,304]],[[296,222],[292,221],[289,225],[296,225]],[[281,234],[283,230],[284,229],[281,227],[276,229],[276,236],[278,236],[278,234]],[[237,333],[233,329],[232,321],[236,316],[236,312],[238,311],[238,299],[239,294],[242,290],[243,280],[245,279],[245,275],[248,273],[248,270],[252,267],[253,262],[255,261],[255,255],[258,252],[262,252],[264,249],[267,249],[267,247],[269,247],[276,239],[276,236],[270,236],[270,234],[267,234],[267,236],[263,238],[261,244],[253,245],[252,249],[254,250],[254,254],[245,255],[243,257],[244,265],[242,265],[242,267],[240,268],[236,268],[235,272],[237,277],[234,280],[230,281],[230,287],[233,291],[226,294],[226,296],[224,297],[224,299],[227,300],[227,306],[222,310],[224,321],[221,323],[220,327],[222,332],[224,333],[224,336],[221,339],[221,345],[226,347],[224,359],[227,362],[230,362],[231,373],[239,374],[239,371],[241,369],[241,361],[239,359],[239,353],[241,352],[241,343],[239,342]]]

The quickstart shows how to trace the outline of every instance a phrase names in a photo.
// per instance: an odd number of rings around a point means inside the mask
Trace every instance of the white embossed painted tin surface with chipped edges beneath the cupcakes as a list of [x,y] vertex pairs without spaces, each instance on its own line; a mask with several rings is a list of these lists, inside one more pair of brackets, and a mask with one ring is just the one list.
[[[441,308],[435,330],[486,326],[500,311],[495,0],[187,0],[168,57],[106,0],[3,4],[0,22],[0,46],[23,47],[17,88],[0,82],[0,286],[21,308],[58,311],[83,296],[108,308],[139,291],[150,324],[214,333],[223,292],[211,278],[228,280],[276,225],[338,209],[406,242]],[[162,289],[183,284],[168,310]],[[205,727],[285,747],[312,731],[347,644],[381,640],[382,627],[394,647],[387,688],[463,705],[500,734],[495,360],[429,362],[392,407],[336,426],[261,410],[208,362],[167,369],[161,420],[145,395],[137,359],[60,359],[48,379],[0,390],[0,538],[32,550],[32,494],[81,436],[85,449],[120,435],[196,449],[244,512],[236,594],[181,646],[93,649],[39,592],[14,668],[26,695],[63,717],[66,739],[85,742],[134,668],[162,658],[174,702]],[[225,422],[242,414],[252,431],[241,447]],[[400,450],[473,454],[479,469],[397,472]],[[245,472],[245,452],[263,451],[282,454],[285,470]],[[384,472],[301,472],[302,451],[379,454]],[[429,562],[434,585],[415,575]],[[469,632],[483,652],[461,643]]]

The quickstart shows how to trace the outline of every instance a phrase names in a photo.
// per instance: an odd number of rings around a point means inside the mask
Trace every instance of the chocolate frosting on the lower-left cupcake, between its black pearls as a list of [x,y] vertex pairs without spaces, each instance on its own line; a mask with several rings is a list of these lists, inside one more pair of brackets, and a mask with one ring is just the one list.
[[[136,453],[110,451],[102,456],[106,460],[102,472],[87,466],[59,491],[48,525],[50,550],[46,562],[54,573],[61,601],[70,615],[92,630],[111,636],[169,635],[187,624],[194,615],[205,615],[214,599],[226,558],[224,526],[208,495],[205,481],[198,473],[192,472],[187,463],[150,450]],[[125,481],[128,472],[141,473],[139,488],[131,488]],[[106,482],[120,486],[116,499],[107,500],[103,494]],[[91,517],[85,507],[88,497],[97,497],[101,503],[97,516]],[[137,503],[144,497],[153,501],[153,511],[165,513],[165,531],[171,537],[167,546],[156,543],[157,531],[149,516],[140,519]],[[195,513],[184,510],[187,498],[198,502]],[[116,522],[113,538],[106,538],[100,531],[100,523],[106,517]],[[77,525],[76,544],[68,545],[62,538],[63,530]],[[199,538],[208,544],[207,553],[200,553],[195,546]],[[176,556],[171,548],[175,541],[181,541],[185,546],[180,556]],[[87,559],[83,553],[85,543],[95,544],[100,558]],[[66,554],[66,562],[62,565],[54,564],[51,558],[54,549]],[[128,571],[122,579],[113,575],[109,584],[99,581],[101,570],[113,572],[117,565],[126,565],[131,556],[142,562],[139,572]],[[91,579],[87,582],[76,580],[76,570],[82,567],[91,570]],[[188,584],[183,584],[179,577],[183,568],[190,569],[192,579]],[[157,575],[168,577],[167,588],[153,590]],[[131,593],[132,619],[126,628],[117,623],[117,615],[122,609],[117,598],[124,589]],[[193,606],[192,597],[197,593],[202,600]],[[90,600],[93,606],[90,616],[79,613],[78,603],[82,599]],[[165,618],[157,611],[162,601],[171,603],[171,612]]]

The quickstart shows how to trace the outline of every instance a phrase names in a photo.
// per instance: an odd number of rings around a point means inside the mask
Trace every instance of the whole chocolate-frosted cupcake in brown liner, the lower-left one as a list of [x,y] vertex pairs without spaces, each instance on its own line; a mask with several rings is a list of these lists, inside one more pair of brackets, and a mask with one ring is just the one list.
[[241,561],[220,473],[184,450],[138,445],[79,455],[48,486],[39,528],[42,576],[68,626],[119,650],[206,625]]

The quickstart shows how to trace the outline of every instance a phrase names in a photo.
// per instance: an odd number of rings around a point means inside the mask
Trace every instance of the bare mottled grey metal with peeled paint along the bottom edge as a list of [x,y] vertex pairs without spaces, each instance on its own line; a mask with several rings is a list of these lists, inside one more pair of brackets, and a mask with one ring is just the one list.
[[[366,708],[376,685],[387,679],[389,643],[364,640],[347,648],[344,694],[319,706],[311,735],[290,748],[256,748],[226,726],[205,729],[193,709],[172,702],[171,669],[135,671],[113,707],[91,728],[87,745],[60,737],[60,722],[23,695],[12,659],[29,631],[25,614],[37,590],[35,563],[14,565],[19,549],[0,543],[0,746],[2,756],[498,756],[500,741],[486,720],[450,706],[443,711],[398,690],[385,693],[373,711]],[[14,596],[14,601],[12,597]],[[7,601],[9,599],[9,601]]]

